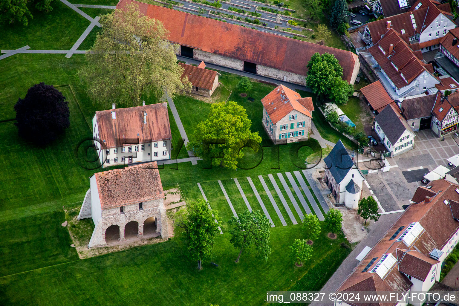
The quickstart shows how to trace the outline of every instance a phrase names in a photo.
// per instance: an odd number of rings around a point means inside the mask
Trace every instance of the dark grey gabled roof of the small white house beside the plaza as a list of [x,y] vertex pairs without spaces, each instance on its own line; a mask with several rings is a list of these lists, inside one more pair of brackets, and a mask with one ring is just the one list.
[[400,113],[396,112],[394,108],[392,105],[388,105],[375,117],[375,121],[378,122],[392,145],[395,145],[406,129],[412,132],[411,128],[403,123],[404,118],[399,117]]

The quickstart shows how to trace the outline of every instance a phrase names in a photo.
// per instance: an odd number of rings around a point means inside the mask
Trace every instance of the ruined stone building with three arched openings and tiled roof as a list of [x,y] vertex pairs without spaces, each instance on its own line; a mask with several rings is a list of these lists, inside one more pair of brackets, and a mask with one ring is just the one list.
[[95,173],[78,220],[92,218],[88,247],[131,238],[168,238],[164,193],[157,163]]

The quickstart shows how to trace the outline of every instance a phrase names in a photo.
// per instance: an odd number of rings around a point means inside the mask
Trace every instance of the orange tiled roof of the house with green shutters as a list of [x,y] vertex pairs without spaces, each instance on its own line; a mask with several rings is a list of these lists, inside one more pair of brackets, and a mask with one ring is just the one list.
[[308,117],[313,117],[311,114],[311,111],[314,110],[312,98],[302,98],[296,91],[284,85],[274,88],[261,99],[261,102],[274,124],[293,110],[299,111]]

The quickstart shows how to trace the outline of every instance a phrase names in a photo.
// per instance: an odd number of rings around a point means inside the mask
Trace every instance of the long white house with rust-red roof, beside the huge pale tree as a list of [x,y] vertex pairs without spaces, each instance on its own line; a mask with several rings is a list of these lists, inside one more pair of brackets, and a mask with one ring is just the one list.
[[102,167],[170,159],[172,133],[166,102],[96,111],[94,145]]

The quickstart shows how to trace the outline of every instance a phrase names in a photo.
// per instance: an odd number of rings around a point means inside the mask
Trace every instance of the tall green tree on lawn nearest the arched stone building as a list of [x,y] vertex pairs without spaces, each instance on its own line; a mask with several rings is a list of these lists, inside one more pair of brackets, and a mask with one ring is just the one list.
[[198,261],[199,270],[202,261],[213,255],[215,237],[220,233],[215,220],[219,222],[218,211],[211,211],[202,199],[187,203],[174,216],[175,229],[185,238],[188,255]]

